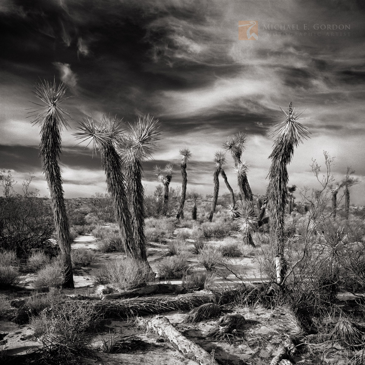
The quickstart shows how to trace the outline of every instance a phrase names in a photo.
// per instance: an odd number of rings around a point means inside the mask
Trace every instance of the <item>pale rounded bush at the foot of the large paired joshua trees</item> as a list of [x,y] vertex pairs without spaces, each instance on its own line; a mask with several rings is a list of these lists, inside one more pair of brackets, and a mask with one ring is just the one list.
[[132,258],[108,261],[95,277],[97,284],[115,284],[123,290],[142,288],[153,280],[149,266]]

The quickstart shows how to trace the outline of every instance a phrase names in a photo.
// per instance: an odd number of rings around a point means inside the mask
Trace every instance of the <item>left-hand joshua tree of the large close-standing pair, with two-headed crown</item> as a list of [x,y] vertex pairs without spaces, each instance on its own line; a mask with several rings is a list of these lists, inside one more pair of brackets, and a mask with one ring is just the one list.
[[[128,257],[141,260],[137,246],[133,241],[131,214],[127,199],[126,179],[123,173],[122,159],[117,146],[125,140],[124,129],[116,116],[105,116],[100,124],[92,118],[83,119],[74,133],[76,139],[93,143],[93,150],[101,154],[101,167],[104,170],[107,191],[112,196],[115,208],[115,219],[119,226],[124,250]],[[80,143],[81,143],[80,142]]]

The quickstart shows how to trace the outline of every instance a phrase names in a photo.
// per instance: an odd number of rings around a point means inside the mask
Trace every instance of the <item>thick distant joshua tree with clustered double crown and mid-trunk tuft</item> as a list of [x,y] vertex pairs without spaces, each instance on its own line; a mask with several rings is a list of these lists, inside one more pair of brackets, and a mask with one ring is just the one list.
[[[237,173],[237,184],[242,197],[252,201],[252,191],[249,181],[247,180],[247,169],[239,167],[242,164],[241,156],[242,152],[245,150],[245,143],[246,134],[238,132],[233,137],[227,138],[227,141],[223,144],[223,148],[231,152],[235,168],[240,170],[240,173]],[[243,165],[246,166],[246,163],[244,162]]]

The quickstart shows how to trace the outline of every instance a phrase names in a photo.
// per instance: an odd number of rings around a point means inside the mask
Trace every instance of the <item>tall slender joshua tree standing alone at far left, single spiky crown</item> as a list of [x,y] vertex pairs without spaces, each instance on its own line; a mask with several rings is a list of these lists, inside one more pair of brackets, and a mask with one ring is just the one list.
[[50,192],[54,225],[57,232],[58,245],[61,250],[61,261],[64,265],[64,288],[74,288],[71,263],[71,243],[69,222],[66,213],[64,189],[62,187],[61,169],[58,164],[62,152],[61,131],[67,128],[66,117],[69,116],[60,104],[66,100],[64,84],[56,85],[48,81],[40,81],[35,85],[34,94],[46,105],[40,105],[32,115],[32,123],[41,126],[41,143],[39,157],[42,159],[42,170],[46,176]]

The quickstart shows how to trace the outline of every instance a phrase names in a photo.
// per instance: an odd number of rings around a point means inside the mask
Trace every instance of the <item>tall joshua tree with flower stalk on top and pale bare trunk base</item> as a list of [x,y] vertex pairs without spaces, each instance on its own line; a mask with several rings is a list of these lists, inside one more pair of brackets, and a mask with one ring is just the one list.
[[[281,109],[281,108],[280,108]],[[288,171],[294,148],[308,135],[307,128],[298,122],[302,113],[295,113],[292,103],[289,103],[288,113],[283,109],[284,120],[270,131],[270,136],[276,137],[273,151],[269,158],[272,160],[269,170],[269,186],[267,196],[270,204],[270,241],[273,255],[276,259],[277,281],[281,283],[283,274],[282,263],[284,256],[284,216],[287,203]]]

